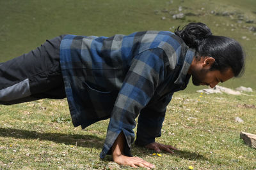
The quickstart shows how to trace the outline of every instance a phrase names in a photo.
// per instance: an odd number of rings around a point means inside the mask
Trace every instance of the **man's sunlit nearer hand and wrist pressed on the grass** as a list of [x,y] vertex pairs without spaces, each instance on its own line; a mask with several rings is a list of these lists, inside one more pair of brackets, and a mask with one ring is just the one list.
[[112,156],[114,162],[122,166],[131,166],[131,167],[145,167],[147,169],[154,168],[153,164],[139,158],[139,157],[127,157],[124,155],[124,134],[121,132],[116,138],[115,143],[112,146]]

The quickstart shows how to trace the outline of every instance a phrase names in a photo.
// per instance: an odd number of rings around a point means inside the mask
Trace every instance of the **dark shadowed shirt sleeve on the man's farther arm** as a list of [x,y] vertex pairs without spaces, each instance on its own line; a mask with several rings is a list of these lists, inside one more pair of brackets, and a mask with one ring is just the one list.
[[136,145],[148,145],[155,142],[155,138],[161,136],[166,107],[172,100],[172,95],[168,94],[157,103],[150,104],[141,110],[138,118]]

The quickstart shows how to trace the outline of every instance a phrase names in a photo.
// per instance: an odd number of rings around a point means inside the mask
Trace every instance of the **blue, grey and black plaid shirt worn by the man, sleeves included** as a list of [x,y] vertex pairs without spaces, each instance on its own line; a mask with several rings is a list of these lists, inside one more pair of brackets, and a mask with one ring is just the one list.
[[194,53],[168,31],[65,36],[60,62],[74,126],[84,129],[110,118],[101,158],[111,153],[120,132],[125,135],[124,153],[131,155],[139,113],[136,145],[154,142],[161,136],[173,92],[188,84]]

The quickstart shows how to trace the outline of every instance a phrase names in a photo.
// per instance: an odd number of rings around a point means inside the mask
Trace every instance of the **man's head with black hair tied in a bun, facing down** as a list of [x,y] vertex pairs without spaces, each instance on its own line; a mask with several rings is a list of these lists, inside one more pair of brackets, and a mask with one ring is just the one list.
[[245,56],[243,48],[236,40],[213,36],[209,27],[202,23],[190,23],[182,30],[178,27],[175,34],[189,48],[196,50],[189,69],[195,85],[214,87],[218,81],[227,81],[243,73]]

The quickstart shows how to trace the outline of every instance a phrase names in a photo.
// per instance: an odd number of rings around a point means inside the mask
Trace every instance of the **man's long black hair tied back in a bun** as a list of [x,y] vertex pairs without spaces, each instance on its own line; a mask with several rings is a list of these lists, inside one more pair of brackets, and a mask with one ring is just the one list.
[[225,36],[213,36],[203,23],[190,23],[175,34],[183,39],[189,48],[196,50],[195,57],[213,57],[211,70],[225,71],[231,67],[234,76],[244,72],[245,55],[242,46],[234,39]]

